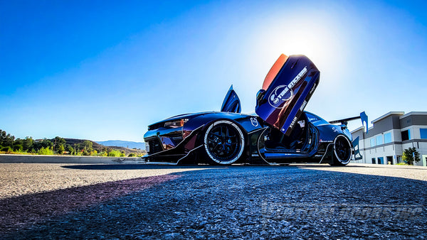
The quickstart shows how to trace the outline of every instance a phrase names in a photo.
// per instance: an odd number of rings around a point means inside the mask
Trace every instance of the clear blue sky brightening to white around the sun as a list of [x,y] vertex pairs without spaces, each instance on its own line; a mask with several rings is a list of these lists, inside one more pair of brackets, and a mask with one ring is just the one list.
[[426,6],[0,0],[0,129],[143,141],[154,121],[218,111],[231,84],[253,112],[280,53],[320,69],[306,110],[327,120],[426,111]]

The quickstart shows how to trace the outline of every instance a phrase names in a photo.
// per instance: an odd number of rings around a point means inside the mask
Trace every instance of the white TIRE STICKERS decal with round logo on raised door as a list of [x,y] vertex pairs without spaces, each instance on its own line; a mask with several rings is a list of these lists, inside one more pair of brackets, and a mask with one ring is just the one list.
[[271,107],[276,109],[283,109],[283,107],[286,107],[294,96],[292,87],[294,87],[295,84],[301,80],[302,76],[304,76],[306,72],[307,66],[305,66],[304,69],[302,69],[301,72],[298,73],[298,75],[288,85],[280,85],[276,87],[268,97],[268,103],[271,105]]

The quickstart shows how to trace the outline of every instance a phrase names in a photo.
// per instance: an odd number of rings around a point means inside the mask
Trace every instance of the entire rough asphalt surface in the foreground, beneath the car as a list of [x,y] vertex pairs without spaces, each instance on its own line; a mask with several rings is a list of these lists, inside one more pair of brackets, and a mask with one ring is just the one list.
[[427,237],[423,167],[1,164],[0,173],[1,239]]

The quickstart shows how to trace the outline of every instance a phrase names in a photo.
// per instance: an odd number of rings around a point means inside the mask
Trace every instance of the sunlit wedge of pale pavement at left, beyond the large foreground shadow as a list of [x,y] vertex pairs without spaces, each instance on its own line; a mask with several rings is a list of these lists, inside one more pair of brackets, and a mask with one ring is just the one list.
[[80,168],[75,164],[0,163],[0,199],[197,169],[203,168],[140,168],[139,165],[83,165]]

